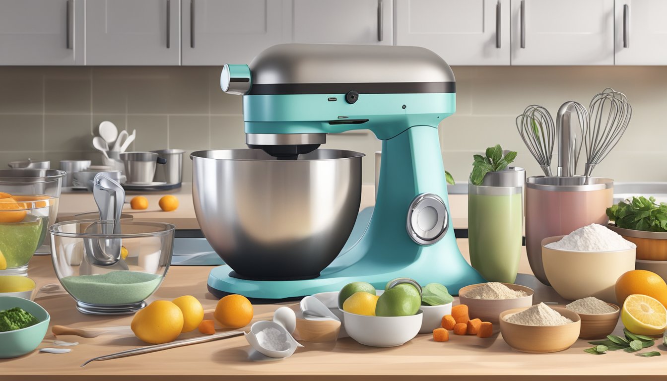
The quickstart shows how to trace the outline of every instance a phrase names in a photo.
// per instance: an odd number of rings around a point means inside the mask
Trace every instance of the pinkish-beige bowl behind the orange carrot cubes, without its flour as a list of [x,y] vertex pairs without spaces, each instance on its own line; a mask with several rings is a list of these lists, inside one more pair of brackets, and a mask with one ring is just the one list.
[[528,296],[514,299],[475,299],[466,298],[466,292],[473,288],[484,286],[486,283],[471,284],[459,290],[459,301],[468,306],[468,314],[471,319],[479,318],[482,322],[492,322],[498,324],[500,312],[511,310],[512,308],[530,307],[533,305],[532,288],[520,286],[518,284],[503,283],[508,288],[516,291],[524,291]]

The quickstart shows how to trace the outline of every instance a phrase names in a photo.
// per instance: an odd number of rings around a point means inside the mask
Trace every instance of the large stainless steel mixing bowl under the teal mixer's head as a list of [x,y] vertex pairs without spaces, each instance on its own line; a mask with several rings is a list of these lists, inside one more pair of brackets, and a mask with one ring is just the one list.
[[260,149],[197,151],[197,222],[239,278],[307,279],[345,245],[359,212],[364,153],[316,149],[277,160]]

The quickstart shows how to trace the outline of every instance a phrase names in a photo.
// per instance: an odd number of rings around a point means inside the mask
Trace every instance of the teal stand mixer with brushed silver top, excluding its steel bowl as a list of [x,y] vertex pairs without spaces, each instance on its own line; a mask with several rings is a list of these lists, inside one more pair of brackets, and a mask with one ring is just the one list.
[[[354,281],[384,288],[399,277],[438,282],[458,294],[484,282],[460,254],[450,220],[438,123],[454,113],[456,93],[454,74],[438,55],[420,47],[275,45],[249,66],[225,65],[221,88],[243,95],[246,143],[273,160],[327,151],[317,149],[327,133],[369,129],[382,140],[382,162],[372,214],[360,213],[347,244],[319,276],[253,279],[225,265],[209,274],[215,296],[278,300],[338,291]],[[195,212],[211,242],[219,230],[201,223],[200,199],[214,189],[197,184],[196,156]]]

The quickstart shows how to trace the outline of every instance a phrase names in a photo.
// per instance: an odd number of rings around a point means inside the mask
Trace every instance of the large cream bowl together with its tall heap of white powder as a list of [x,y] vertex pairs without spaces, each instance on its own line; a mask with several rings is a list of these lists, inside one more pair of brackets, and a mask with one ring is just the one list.
[[635,244],[598,224],[542,240],[544,274],[567,300],[594,296],[615,302],[616,280],[634,270],[635,257]]

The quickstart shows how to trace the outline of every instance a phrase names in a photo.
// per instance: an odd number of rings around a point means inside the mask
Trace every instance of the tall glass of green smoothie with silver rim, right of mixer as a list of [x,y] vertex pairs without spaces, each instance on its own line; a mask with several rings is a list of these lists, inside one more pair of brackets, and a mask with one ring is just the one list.
[[524,225],[526,171],[508,167],[486,173],[482,185],[468,183],[470,263],[489,282],[514,283]]

